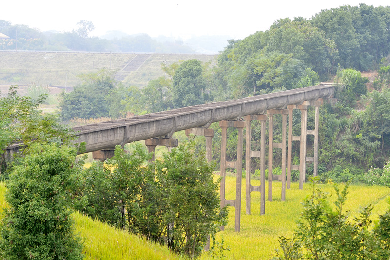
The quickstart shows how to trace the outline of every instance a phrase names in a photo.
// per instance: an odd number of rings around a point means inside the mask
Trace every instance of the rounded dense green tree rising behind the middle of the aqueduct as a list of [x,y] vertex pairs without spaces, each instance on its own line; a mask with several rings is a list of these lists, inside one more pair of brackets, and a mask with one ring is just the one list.
[[173,76],[172,103],[175,108],[203,104],[206,83],[199,60],[186,60]]

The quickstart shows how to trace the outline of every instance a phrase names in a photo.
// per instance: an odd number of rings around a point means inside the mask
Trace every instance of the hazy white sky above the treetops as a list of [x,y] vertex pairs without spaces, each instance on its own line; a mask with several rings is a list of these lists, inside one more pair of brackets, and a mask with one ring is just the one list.
[[[0,19],[41,31],[71,31],[92,21],[93,36],[110,30],[180,37],[228,35],[243,39],[280,18],[310,18],[322,9],[359,5],[362,0],[2,0]],[[390,5],[389,0],[366,4]]]

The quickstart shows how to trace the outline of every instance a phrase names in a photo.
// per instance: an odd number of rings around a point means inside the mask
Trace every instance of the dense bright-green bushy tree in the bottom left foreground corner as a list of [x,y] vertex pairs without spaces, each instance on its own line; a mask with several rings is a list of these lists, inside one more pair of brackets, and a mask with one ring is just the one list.
[[82,259],[70,216],[69,191],[80,167],[75,156],[74,148],[35,144],[14,168],[0,225],[4,259]]

